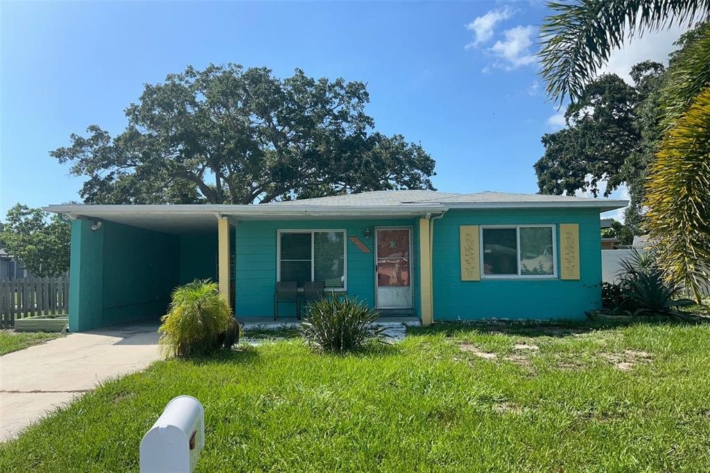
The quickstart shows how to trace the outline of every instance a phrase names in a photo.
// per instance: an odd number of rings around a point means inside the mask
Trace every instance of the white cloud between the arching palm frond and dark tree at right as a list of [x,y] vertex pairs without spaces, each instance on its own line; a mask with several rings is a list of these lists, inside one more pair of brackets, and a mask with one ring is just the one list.
[[641,38],[627,40],[623,48],[611,53],[606,65],[599,69],[599,74],[611,72],[629,84],[633,84],[629,75],[631,67],[645,60],[654,60],[667,65],[668,54],[677,49],[673,43],[688,29],[685,25],[674,25],[667,30],[652,31],[645,33]]

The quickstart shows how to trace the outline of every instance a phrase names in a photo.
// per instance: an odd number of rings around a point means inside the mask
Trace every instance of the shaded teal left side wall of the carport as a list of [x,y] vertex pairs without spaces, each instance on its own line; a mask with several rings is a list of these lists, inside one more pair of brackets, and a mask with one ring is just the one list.
[[72,332],[165,313],[178,284],[175,235],[113,222],[72,222],[69,319]]

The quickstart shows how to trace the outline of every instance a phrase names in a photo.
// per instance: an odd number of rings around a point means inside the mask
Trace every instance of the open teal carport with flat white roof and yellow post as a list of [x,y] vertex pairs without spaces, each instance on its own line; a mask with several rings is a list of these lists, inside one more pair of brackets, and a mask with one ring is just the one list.
[[173,289],[195,279],[229,294],[234,231],[212,207],[222,206],[47,207],[72,221],[70,331],[157,321]]

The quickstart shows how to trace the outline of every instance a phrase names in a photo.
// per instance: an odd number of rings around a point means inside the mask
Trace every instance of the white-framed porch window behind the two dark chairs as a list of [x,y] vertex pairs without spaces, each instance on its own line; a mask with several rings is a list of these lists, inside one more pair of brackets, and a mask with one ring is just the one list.
[[279,231],[278,281],[323,281],[345,289],[344,230]]

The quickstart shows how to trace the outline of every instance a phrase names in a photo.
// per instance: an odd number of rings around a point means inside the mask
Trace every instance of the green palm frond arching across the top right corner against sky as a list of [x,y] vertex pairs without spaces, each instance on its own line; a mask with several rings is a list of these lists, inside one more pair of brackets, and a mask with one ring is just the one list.
[[579,0],[550,2],[556,13],[540,28],[542,79],[547,94],[574,102],[611,51],[646,31],[692,25],[710,12],[710,0]]

